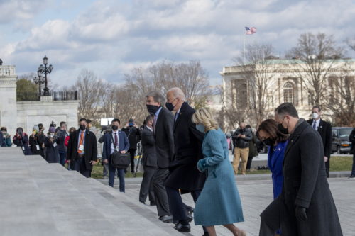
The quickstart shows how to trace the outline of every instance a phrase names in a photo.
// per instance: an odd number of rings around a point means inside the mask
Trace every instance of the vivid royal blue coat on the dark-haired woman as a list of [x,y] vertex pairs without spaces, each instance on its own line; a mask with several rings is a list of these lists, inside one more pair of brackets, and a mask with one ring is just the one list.
[[276,146],[268,147],[268,168],[272,173],[274,199],[283,190],[283,155],[287,145],[288,141],[285,141],[278,143]]

